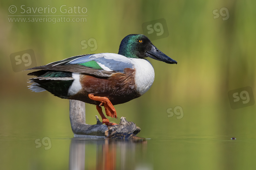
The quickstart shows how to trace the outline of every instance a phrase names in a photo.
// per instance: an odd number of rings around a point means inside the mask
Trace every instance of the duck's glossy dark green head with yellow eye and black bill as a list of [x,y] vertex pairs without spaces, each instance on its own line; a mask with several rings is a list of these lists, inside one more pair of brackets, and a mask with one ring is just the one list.
[[168,64],[177,64],[175,60],[158,50],[145,35],[127,35],[120,44],[118,54],[129,58],[150,57]]

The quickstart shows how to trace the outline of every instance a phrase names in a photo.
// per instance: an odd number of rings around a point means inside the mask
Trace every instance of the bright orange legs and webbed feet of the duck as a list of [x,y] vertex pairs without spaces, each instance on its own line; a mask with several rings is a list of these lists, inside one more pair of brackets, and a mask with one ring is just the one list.
[[117,118],[116,115],[116,110],[114,108],[114,106],[112,105],[112,103],[110,102],[110,100],[107,97],[98,97],[98,96],[94,96],[92,94],[89,94],[88,97],[91,100],[96,100],[96,101],[100,101],[101,104],[99,106],[96,106],[97,111],[99,112],[101,118],[102,118],[102,123],[105,123],[106,125],[115,125],[116,123],[111,123],[109,122],[109,119],[107,119],[101,109],[101,105],[104,103],[104,108],[105,108],[105,112],[107,116],[111,116],[112,118],[115,117]]

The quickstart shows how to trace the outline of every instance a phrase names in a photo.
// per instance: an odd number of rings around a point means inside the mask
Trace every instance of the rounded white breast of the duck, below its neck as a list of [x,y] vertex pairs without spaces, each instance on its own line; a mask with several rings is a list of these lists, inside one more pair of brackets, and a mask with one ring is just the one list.
[[143,95],[152,86],[155,79],[155,71],[148,60],[141,58],[130,58],[134,63],[135,83],[137,91]]

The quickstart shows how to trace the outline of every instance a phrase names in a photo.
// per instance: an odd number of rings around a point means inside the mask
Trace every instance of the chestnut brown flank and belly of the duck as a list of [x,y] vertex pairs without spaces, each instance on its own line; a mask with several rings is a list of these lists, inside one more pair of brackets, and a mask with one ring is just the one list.
[[113,105],[128,102],[140,97],[136,91],[135,69],[125,68],[123,73],[115,73],[110,78],[101,78],[93,75],[80,75],[82,89],[69,99],[80,100],[90,104],[99,105],[99,101],[89,99],[88,94],[107,97]]

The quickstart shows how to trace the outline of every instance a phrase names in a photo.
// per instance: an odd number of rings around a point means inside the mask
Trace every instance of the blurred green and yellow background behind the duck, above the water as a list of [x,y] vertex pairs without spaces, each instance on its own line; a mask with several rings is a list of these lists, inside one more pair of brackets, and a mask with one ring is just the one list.
[[[81,6],[88,9],[88,16],[86,22],[9,22],[10,5],[50,5],[57,10],[61,5]],[[37,66],[81,54],[118,53],[126,35],[144,34],[142,23],[160,18],[166,20],[169,36],[152,43],[178,64],[148,59],[155,69],[154,84],[142,97],[116,105],[117,116],[135,122],[141,128],[138,136],[145,138],[255,139],[255,105],[231,109],[228,99],[229,90],[246,86],[256,90],[255,6],[253,0],[1,1],[1,141],[12,137],[73,136],[69,101],[46,91],[27,89],[29,71],[14,72],[11,53],[33,49]],[[230,17],[214,19],[213,10],[222,7],[228,9]],[[97,41],[97,50],[82,50],[81,41],[89,38]],[[181,106],[184,113],[181,119],[176,115],[168,117],[167,110],[176,106]],[[86,123],[95,124],[95,115],[95,106],[86,104]],[[69,143],[64,145],[68,149]],[[240,147],[242,151],[246,145]],[[4,151],[5,147],[0,148]],[[20,147],[15,148],[22,152]],[[199,152],[218,157],[225,148],[213,142]],[[164,154],[166,157],[168,152]],[[254,161],[255,155],[251,154],[246,158]],[[209,164],[215,165],[209,160],[205,167]]]

